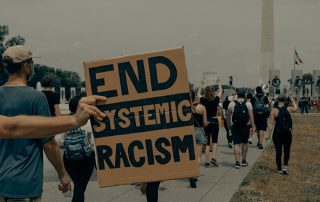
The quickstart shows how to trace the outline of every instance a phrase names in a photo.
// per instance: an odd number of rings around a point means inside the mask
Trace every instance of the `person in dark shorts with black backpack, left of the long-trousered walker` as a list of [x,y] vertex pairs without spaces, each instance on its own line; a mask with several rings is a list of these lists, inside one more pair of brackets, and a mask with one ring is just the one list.
[[[238,92],[237,99],[232,101],[228,106],[228,127],[231,128],[234,155],[236,159],[235,168],[248,166],[246,160],[248,152],[248,139],[250,132],[253,131],[253,109],[252,104],[245,100],[245,94]],[[242,153],[242,161],[240,164],[240,150]]]

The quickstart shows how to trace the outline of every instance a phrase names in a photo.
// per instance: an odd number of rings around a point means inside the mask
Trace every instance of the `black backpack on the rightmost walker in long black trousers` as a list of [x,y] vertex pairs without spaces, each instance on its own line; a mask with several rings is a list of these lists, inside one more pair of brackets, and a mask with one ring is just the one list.
[[278,133],[289,133],[292,130],[292,118],[287,107],[279,107],[278,117],[276,117],[275,129]]

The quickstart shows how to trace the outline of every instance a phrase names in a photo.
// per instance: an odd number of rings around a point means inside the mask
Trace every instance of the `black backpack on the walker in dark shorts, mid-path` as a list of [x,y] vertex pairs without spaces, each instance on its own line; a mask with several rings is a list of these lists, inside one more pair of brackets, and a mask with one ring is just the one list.
[[249,121],[249,110],[246,105],[246,102],[240,103],[238,100],[235,100],[235,106],[232,114],[232,122],[234,126],[242,127],[246,126]]

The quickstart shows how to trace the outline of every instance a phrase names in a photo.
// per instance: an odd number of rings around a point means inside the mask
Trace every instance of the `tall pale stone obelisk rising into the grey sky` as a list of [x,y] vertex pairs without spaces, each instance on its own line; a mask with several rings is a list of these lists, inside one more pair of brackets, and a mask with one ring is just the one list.
[[273,0],[262,0],[260,83],[268,83],[274,69]]

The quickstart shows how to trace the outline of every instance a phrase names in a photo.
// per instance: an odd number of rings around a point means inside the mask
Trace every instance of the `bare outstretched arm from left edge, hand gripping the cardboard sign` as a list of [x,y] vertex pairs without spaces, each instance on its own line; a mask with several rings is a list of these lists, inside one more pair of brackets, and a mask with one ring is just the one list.
[[78,128],[86,124],[91,116],[102,120],[105,114],[95,107],[98,102],[106,102],[106,98],[102,96],[82,98],[77,112],[69,116],[0,116],[0,138],[40,138]]

